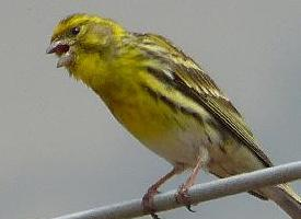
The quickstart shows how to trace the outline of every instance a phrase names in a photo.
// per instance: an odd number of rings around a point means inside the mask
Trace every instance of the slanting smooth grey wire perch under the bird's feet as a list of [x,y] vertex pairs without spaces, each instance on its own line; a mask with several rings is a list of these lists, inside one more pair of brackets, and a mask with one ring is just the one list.
[[[301,161],[197,184],[189,189],[188,195],[194,204],[198,204],[298,178],[301,178]],[[174,198],[175,193],[176,191],[170,191],[154,197],[158,212],[182,207]],[[132,199],[53,219],[126,219],[143,215],[141,199]]]

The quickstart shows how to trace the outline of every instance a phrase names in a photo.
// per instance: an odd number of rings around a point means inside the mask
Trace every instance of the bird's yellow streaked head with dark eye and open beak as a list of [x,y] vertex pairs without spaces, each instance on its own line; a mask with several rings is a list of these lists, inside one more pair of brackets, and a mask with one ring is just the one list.
[[57,67],[70,67],[81,51],[105,51],[117,45],[126,31],[109,19],[89,14],[72,14],[54,30],[47,54],[55,53]]

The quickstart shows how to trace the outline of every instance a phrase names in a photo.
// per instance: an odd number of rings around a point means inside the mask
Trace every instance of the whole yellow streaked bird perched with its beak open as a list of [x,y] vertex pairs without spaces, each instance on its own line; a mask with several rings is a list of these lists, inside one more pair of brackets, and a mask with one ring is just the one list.
[[[56,54],[58,68],[86,84],[141,145],[172,164],[143,195],[143,210],[153,218],[159,187],[186,170],[190,175],[175,198],[190,209],[188,189],[200,170],[228,177],[274,165],[208,72],[161,35],[76,13],[56,25],[46,53]],[[301,218],[301,198],[288,184],[250,194]]]

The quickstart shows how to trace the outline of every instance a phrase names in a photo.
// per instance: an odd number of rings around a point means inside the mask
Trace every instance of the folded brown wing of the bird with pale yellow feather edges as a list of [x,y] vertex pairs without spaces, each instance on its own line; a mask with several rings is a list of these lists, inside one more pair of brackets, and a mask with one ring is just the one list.
[[[202,77],[194,74],[202,74]],[[181,66],[180,69],[177,66],[174,76],[180,84],[178,89],[185,91],[188,88],[190,90],[189,95],[192,99],[201,104],[218,120],[228,127],[234,136],[241,139],[245,146],[247,146],[263,161],[266,166],[273,165],[267,155],[259,149],[258,143],[250,128],[246,126],[241,114],[201,69],[190,70],[183,66]],[[187,81],[185,77],[194,80]]]

